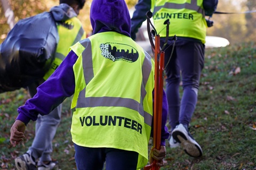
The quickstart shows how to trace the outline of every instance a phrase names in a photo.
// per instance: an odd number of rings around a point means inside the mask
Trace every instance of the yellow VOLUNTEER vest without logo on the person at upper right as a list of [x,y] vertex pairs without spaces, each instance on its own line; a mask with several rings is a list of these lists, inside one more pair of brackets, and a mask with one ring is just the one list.
[[203,0],[152,0],[153,20],[160,37],[166,37],[164,21],[170,20],[169,37],[195,38],[205,43],[206,21]]

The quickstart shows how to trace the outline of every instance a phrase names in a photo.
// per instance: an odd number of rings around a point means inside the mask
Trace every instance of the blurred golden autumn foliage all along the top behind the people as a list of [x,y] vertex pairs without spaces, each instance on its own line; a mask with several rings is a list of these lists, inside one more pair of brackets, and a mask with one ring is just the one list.
[[[34,16],[38,13],[49,11],[58,0],[1,0],[0,1],[0,43],[6,38],[10,27],[5,18],[2,1],[8,1],[13,12],[15,22],[20,19]],[[78,18],[82,21],[87,33],[91,33],[90,6],[92,0],[87,0]],[[125,0],[129,8],[133,7],[138,0]],[[219,12],[245,12],[255,11],[255,0],[219,0],[217,11]],[[246,14],[213,14],[214,25],[207,29],[207,36],[218,36],[227,38],[230,44],[255,41],[256,39],[256,13]]]

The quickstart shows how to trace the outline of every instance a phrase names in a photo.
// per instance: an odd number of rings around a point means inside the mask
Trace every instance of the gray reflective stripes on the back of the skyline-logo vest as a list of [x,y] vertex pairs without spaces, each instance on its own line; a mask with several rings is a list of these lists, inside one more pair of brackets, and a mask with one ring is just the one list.
[[[83,57],[83,73],[85,83],[88,84],[94,74],[93,74],[93,65],[92,65],[92,48],[91,41],[89,39],[84,39],[80,41],[81,45],[85,47],[85,50],[82,53]],[[148,81],[149,75],[151,72],[151,59],[149,55],[145,56],[145,59],[142,64],[142,76],[143,82],[141,86],[141,101],[140,103],[134,99],[130,98],[121,98],[121,97],[85,97],[86,88],[79,92],[77,99],[76,108],[85,108],[85,107],[126,107],[134,111],[137,111],[141,116],[144,117],[144,122],[151,126],[152,118],[149,113],[143,110],[143,99],[146,96],[145,86]],[[143,95],[142,95],[143,94]],[[75,111],[75,108],[72,110]]]

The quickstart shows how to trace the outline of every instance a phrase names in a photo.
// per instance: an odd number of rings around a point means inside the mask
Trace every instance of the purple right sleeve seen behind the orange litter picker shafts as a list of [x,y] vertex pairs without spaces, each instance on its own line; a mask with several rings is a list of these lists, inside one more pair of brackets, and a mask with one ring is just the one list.
[[[154,90],[153,90],[153,103],[154,103]],[[168,114],[168,103],[167,103],[167,97],[166,97],[165,91],[163,90],[161,146],[165,146],[165,140],[168,139],[170,135],[170,133],[168,132],[168,128],[165,125],[167,121],[167,114]],[[153,137],[153,129],[154,129],[154,125],[153,125],[153,128],[151,129],[151,137]]]

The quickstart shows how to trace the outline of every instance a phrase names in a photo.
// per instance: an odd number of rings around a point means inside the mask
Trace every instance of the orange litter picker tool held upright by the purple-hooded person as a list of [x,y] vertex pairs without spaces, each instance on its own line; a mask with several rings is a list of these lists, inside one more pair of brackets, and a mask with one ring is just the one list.
[[[155,54],[155,88],[154,88],[154,132],[153,132],[153,149],[156,148],[160,150],[161,147],[161,129],[162,129],[162,103],[163,103],[163,80],[164,80],[164,48],[167,44],[168,36],[169,36],[169,20],[166,20],[164,24],[166,26],[166,38],[165,44],[162,49],[160,49],[160,37],[157,35],[156,29],[153,24],[150,22],[150,18],[152,17],[152,13],[150,11],[147,12],[147,29],[149,41],[151,44],[151,48],[153,50],[153,54]],[[150,25],[154,30],[150,31]],[[155,45],[153,43],[152,36],[155,36]],[[144,167],[144,170],[152,169],[158,170],[159,166],[156,165],[157,160],[154,160],[153,163]]]

